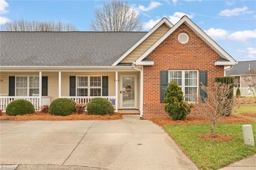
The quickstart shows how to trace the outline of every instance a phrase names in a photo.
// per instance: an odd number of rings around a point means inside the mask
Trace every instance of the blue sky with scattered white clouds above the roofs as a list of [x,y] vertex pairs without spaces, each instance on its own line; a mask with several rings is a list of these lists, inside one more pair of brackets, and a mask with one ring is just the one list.
[[[106,1],[0,0],[0,25],[19,19],[63,21],[90,30]],[[149,30],[163,17],[175,24],[187,15],[237,61],[256,60],[256,1],[128,1]]]

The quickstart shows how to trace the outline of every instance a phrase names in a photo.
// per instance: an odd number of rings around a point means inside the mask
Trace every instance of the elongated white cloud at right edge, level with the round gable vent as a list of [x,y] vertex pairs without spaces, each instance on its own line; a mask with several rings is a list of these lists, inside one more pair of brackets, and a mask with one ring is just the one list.
[[256,38],[256,30],[235,31],[228,36],[229,39],[246,42],[249,38]]

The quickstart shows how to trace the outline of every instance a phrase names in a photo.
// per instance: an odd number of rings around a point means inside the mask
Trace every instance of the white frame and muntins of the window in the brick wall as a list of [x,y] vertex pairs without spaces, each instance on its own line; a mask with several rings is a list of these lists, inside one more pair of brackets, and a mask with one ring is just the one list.
[[[169,70],[168,71],[168,82],[170,83],[170,71],[181,71],[181,90],[183,92],[183,98],[185,100],[185,87],[197,87],[196,88],[196,95],[198,96],[198,92],[199,92],[199,74],[198,74],[198,70]],[[197,74],[197,86],[185,86],[185,71],[196,71]],[[195,103],[193,101],[186,101],[188,103]]]

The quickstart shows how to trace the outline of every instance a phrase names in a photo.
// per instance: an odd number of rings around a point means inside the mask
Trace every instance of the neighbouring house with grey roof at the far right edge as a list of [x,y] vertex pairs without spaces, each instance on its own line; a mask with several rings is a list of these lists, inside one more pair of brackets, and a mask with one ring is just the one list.
[[[235,77],[234,80],[234,93],[239,87],[242,96],[253,96],[253,76],[252,70],[256,70],[256,60],[252,61],[239,61],[235,66],[226,70],[226,76]],[[255,79],[255,78],[254,78]],[[255,91],[256,92],[256,91]],[[254,92],[254,93],[255,93]]]

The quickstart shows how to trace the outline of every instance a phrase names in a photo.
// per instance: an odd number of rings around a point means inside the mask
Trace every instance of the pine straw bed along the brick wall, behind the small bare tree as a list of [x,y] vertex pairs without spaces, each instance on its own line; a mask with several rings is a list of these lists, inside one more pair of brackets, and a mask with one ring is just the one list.
[[[165,126],[165,125],[190,125],[190,124],[205,124],[210,123],[209,120],[205,118],[200,117],[193,117],[188,116],[186,120],[172,120],[169,117],[166,118],[151,118],[152,122],[159,126]],[[252,120],[243,118],[243,117],[236,117],[236,116],[229,116],[229,117],[223,117],[219,121],[220,123],[253,123]]]

